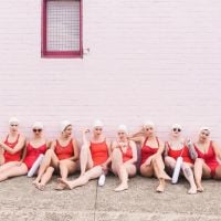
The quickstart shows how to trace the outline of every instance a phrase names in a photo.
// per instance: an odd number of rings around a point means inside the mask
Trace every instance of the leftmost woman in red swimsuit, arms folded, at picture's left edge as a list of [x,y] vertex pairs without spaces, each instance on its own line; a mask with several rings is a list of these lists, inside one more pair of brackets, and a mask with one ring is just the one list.
[[9,119],[9,134],[0,141],[0,172],[21,161],[25,137],[19,133],[19,120]]

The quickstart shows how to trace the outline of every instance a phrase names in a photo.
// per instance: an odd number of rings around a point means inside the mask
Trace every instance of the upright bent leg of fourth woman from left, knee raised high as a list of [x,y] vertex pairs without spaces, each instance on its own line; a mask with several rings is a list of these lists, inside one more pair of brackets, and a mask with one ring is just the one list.
[[81,164],[81,176],[85,173],[87,168],[88,169],[93,168],[92,155],[90,146],[87,145],[83,145],[81,148],[80,164]]

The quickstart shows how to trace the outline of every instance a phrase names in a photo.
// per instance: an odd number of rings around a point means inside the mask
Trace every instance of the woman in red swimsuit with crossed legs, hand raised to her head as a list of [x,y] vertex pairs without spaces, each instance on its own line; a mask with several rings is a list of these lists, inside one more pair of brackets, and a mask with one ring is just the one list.
[[157,192],[164,192],[165,180],[171,178],[165,171],[165,164],[162,160],[162,152],[165,149],[164,143],[155,135],[155,125],[151,122],[144,124],[143,129],[130,136],[136,143],[141,146],[141,164],[140,173],[144,177],[157,177],[159,186]]

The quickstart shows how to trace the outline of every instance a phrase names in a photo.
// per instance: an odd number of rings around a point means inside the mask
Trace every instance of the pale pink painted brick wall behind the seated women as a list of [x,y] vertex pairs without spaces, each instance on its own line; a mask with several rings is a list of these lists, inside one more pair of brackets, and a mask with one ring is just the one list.
[[221,1],[84,0],[84,48],[77,59],[41,59],[41,1],[0,7],[0,134],[11,115],[28,133],[42,120],[53,137],[67,118],[94,118],[113,136],[152,119],[160,137],[180,123],[221,139]]

